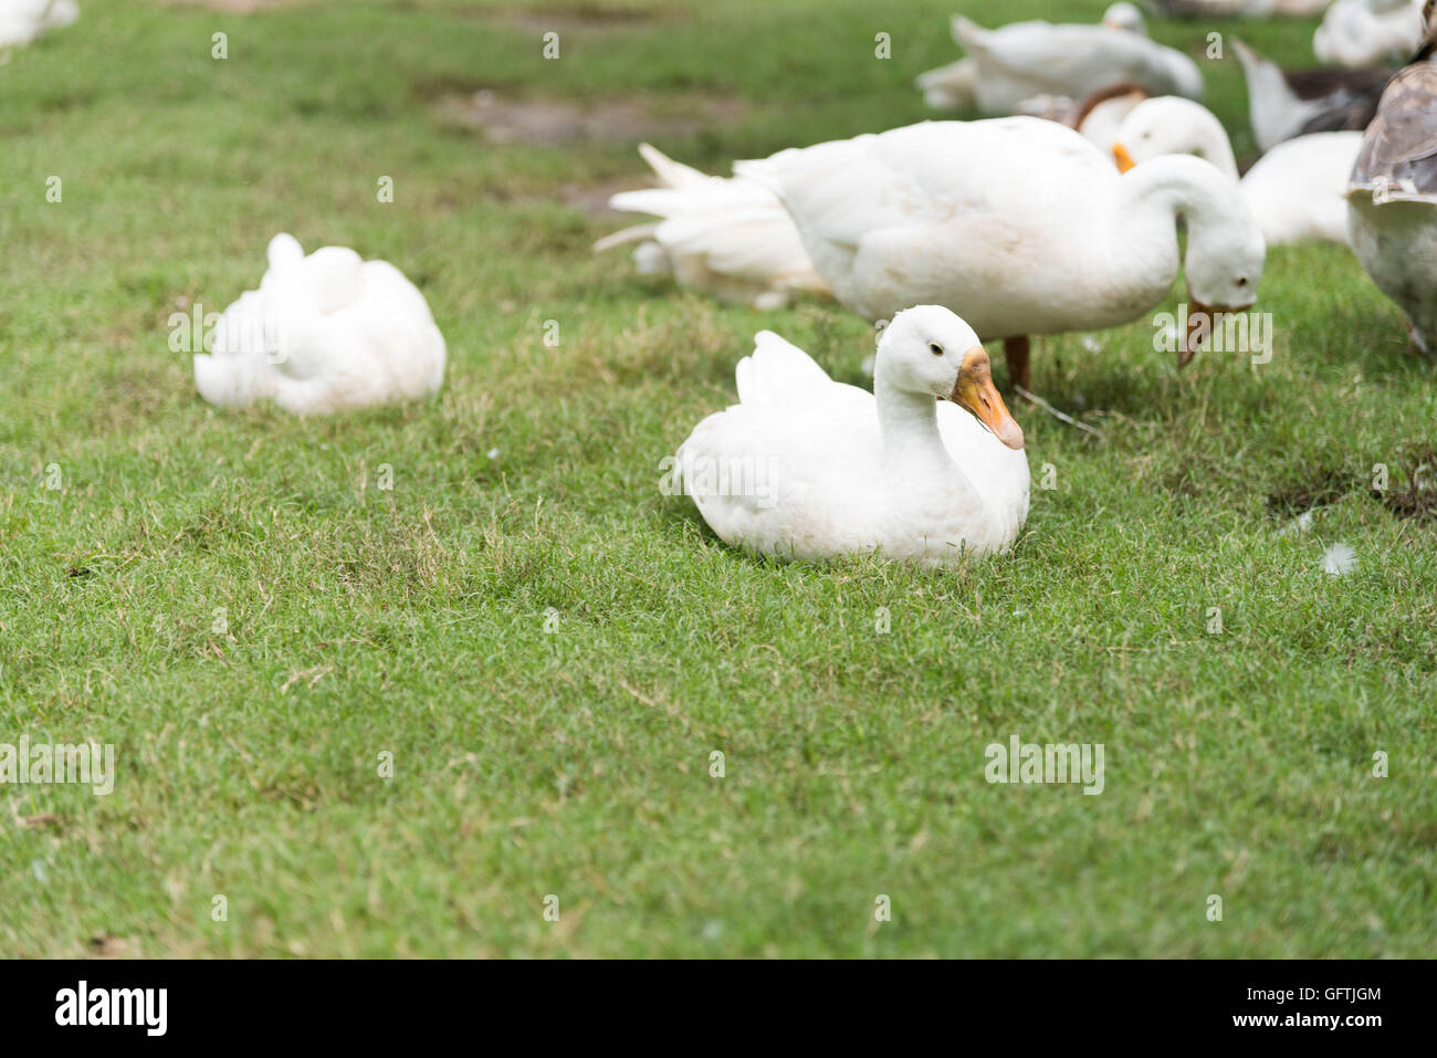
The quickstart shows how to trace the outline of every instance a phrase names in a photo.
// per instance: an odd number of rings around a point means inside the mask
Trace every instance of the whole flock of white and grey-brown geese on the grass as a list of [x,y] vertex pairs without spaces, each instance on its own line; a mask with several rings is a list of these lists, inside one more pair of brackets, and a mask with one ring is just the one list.
[[[660,185],[612,206],[657,220],[596,249],[638,243],[641,270],[759,308],[831,293],[881,328],[872,392],[835,382],[760,332],[737,367],[739,402],[678,448],[684,490],[723,540],[763,555],[878,552],[950,565],[1003,551],[1027,516],[1029,470],[979,335],[1003,339],[1010,380],[1026,394],[1029,335],[1141,318],[1180,264],[1194,316],[1246,309],[1269,243],[1351,243],[1407,315],[1413,348],[1437,352],[1433,7],[1338,0],[1315,50],[1359,69],[1336,76],[1282,70],[1239,46],[1265,151],[1240,178],[1226,131],[1197,102],[1196,63],[1148,39],[1129,3],[1096,26],[986,30],[954,17],[967,55],[918,85],[934,105],[1000,115],[986,121],[792,148],[736,162],[733,177],[644,144]],[[7,0],[0,47],[76,14],[73,0]],[[1388,70],[1364,68],[1408,53],[1390,83]],[[226,309],[194,356],[205,400],[310,414],[440,388],[444,338],[398,269],[336,246],[306,256],[287,234],[267,256],[259,288]],[[1183,341],[1180,364],[1193,352]],[[724,486],[736,467],[750,487]]]

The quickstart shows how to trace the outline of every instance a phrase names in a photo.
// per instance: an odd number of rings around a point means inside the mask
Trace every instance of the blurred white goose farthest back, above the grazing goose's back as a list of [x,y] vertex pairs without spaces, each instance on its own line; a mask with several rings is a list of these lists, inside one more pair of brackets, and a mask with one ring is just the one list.
[[1096,26],[1030,20],[989,30],[954,16],[951,29],[967,58],[918,76],[931,106],[1004,115],[1033,96],[1085,99],[1124,80],[1152,95],[1203,96],[1197,63],[1150,40],[1131,3],[1109,7]]

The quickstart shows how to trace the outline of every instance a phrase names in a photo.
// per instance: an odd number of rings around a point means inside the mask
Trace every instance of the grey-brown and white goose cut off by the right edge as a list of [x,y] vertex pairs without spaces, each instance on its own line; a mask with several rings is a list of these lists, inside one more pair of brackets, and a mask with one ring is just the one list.
[[1408,66],[1387,86],[1348,206],[1352,250],[1405,313],[1408,349],[1437,355],[1437,62]]

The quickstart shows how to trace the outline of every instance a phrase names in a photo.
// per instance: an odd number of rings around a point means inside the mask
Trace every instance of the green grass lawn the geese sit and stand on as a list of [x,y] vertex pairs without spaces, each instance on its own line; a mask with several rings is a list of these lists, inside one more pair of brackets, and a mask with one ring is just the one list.
[[[1039,341],[1035,385],[1104,438],[1016,408],[1058,487],[1010,555],[775,565],[658,461],[754,331],[861,382],[868,326],[596,259],[618,221],[565,196],[638,181],[632,142],[496,147],[433,104],[718,96],[737,121],[661,147],[720,170],[927,116],[948,0],[82,7],[0,66],[0,742],[111,742],[118,781],[0,786],[0,953],[1431,953],[1437,519],[1394,497],[1437,384],[1345,250],[1270,254],[1266,367],[1178,374],[1147,322]],[[1312,26],[1152,32],[1303,63]],[[1236,60],[1203,65],[1246,131]],[[279,230],[420,283],[437,398],[198,400],[167,318],[253,286]],[[1104,743],[1106,789],[987,785],[1015,733]]]

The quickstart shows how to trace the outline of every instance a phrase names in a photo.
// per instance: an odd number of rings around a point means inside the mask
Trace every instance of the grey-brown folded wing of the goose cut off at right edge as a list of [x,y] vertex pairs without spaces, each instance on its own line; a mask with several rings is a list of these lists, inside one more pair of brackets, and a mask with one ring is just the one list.
[[1355,190],[1437,201],[1437,63],[1408,66],[1387,86],[1352,168]]

